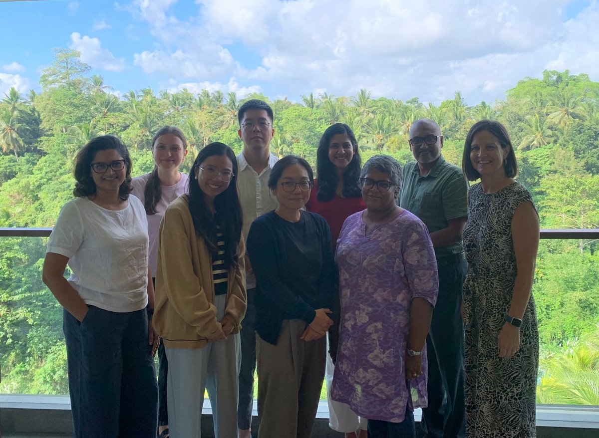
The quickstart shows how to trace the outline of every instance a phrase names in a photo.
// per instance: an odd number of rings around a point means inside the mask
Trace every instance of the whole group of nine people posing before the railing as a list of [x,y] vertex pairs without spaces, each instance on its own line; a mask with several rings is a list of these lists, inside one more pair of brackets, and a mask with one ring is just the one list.
[[273,120],[243,104],[241,153],[211,143],[189,176],[171,126],[141,177],[114,136],[77,154],[43,267],[74,437],[199,437],[205,390],[215,436],[250,437],[256,364],[261,438],[310,437],[323,380],[346,438],[415,436],[417,407],[428,437],[536,436],[539,219],[504,127],[474,124],[459,169],[422,119],[415,162],[362,167],[335,123],[315,180]]

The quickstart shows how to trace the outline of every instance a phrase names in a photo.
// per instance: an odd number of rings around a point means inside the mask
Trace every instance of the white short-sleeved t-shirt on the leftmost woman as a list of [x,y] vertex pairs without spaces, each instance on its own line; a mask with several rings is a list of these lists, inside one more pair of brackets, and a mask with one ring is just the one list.
[[67,202],[50,234],[46,253],[69,258],[68,282],[86,304],[111,312],[147,306],[146,211],[135,196],[119,211],[87,197]]

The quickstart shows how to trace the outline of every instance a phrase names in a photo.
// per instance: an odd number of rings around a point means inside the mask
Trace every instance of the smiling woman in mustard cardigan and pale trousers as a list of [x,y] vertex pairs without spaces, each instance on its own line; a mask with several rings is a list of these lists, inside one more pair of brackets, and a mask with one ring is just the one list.
[[204,389],[214,434],[237,436],[239,330],[246,312],[237,160],[211,143],[196,157],[189,191],[159,230],[154,327],[168,358],[170,433],[200,436]]

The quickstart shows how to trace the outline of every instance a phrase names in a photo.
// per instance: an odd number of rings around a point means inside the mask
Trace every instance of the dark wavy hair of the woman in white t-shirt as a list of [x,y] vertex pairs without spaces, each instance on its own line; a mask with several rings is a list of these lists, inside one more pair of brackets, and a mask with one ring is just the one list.
[[131,193],[131,157],[125,144],[113,135],[92,138],[75,156],[75,196],[96,194],[96,183],[92,178],[92,161],[98,151],[116,150],[125,160],[125,181],[119,187],[119,199],[127,200]]

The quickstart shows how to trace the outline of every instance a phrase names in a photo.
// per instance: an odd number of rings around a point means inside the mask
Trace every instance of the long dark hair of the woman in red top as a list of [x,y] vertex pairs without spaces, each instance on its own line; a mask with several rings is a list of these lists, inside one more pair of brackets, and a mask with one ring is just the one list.
[[352,128],[345,123],[335,123],[326,128],[320,137],[318,150],[316,151],[316,170],[318,173],[318,193],[316,198],[320,202],[328,202],[335,197],[339,177],[335,171],[335,165],[329,159],[329,144],[337,134],[346,134],[353,146],[353,158],[343,172],[343,197],[362,197],[362,190],[358,187],[358,178],[362,169],[358,142],[353,134]]

